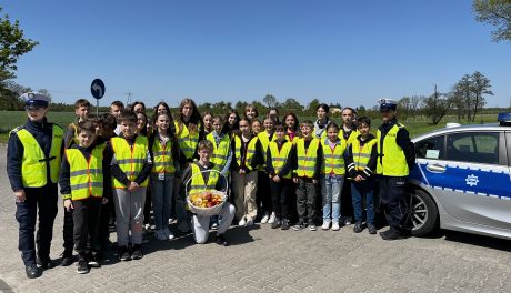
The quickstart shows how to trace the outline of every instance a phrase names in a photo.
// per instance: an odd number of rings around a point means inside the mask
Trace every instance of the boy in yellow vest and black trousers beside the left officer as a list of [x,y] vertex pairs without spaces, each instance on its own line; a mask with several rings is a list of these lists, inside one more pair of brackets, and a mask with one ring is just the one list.
[[81,121],[77,133],[78,144],[73,143],[66,150],[59,184],[66,210],[73,210],[73,241],[79,256],[77,272],[87,274],[89,266],[99,266],[93,250],[101,205],[108,202],[103,198],[103,182],[104,178],[108,179],[109,168],[103,160],[104,144],[94,143],[94,125],[90,121]]

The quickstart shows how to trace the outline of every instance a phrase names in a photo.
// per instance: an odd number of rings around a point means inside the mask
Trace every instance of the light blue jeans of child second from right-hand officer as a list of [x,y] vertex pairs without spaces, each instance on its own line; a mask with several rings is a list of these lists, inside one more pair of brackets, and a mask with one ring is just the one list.
[[341,190],[344,176],[322,175],[321,195],[323,198],[323,221],[339,222],[341,216]]

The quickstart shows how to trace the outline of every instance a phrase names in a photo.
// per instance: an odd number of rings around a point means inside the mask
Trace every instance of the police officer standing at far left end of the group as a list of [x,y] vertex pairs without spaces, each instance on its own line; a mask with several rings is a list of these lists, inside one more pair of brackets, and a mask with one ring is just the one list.
[[[21,99],[26,101],[28,120],[10,132],[7,172],[16,196],[16,219],[20,223],[18,249],[27,277],[33,279],[39,277],[42,270],[54,266],[50,259],[50,245],[58,211],[57,182],[63,152],[63,130],[47,121],[50,98],[29,92]],[[39,230],[34,239],[38,212]]]

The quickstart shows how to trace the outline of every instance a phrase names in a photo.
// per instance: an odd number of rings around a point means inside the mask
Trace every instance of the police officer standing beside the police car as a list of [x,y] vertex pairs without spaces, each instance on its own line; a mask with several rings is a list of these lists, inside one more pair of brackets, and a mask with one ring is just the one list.
[[381,99],[380,112],[383,124],[378,129],[377,173],[380,182],[381,203],[390,229],[381,232],[384,240],[403,239],[410,234],[405,223],[405,183],[415,161],[415,151],[405,127],[395,119],[398,102]]

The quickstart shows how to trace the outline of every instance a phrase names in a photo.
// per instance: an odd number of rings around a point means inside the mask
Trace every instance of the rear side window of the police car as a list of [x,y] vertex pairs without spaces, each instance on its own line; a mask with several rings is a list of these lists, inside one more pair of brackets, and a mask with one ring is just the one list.
[[498,164],[499,133],[467,132],[449,134],[447,160]]

